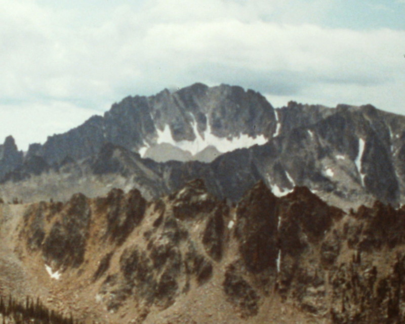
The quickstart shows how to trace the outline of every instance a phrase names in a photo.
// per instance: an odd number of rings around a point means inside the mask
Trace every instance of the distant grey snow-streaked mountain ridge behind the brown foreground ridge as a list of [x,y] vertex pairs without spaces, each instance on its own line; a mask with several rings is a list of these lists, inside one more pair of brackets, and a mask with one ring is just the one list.
[[395,205],[405,202],[404,139],[405,117],[372,105],[274,109],[253,90],[194,84],[127,97],[25,156],[9,137],[0,145],[0,195],[65,200],[114,186],[155,198],[202,178],[234,201],[262,180],[278,195],[305,185],[343,208]]

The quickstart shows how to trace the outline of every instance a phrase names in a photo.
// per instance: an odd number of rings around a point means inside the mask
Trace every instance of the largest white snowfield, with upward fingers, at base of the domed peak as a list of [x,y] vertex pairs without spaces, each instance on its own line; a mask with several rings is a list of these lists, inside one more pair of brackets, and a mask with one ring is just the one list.
[[263,145],[267,142],[267,139],[264,137],[264,135],[256,136],[256,138],[250,137],[247,134],[239,134],[238,137],[232,137],[231,139],[228,139],[226,137],[217,137],[212,134],[209,121],[207,121],[207,130],[202,135],[200,135],[197,130],[197,123],[195,121],[195,118],[193,115],[191,116],[193,118],[192,127],[195,135],[195,139],[193,141],[175,141],[170,131],[170,126],[166,124],[163,131],[156,129],[156,143],[169,143],[184,151],[189,151],[192,155],[195,155],[198,152],[203,151],[210,145],[214,146],[221,153],[225,153],[234,151],[238,148],[249,148],[256,144]]

